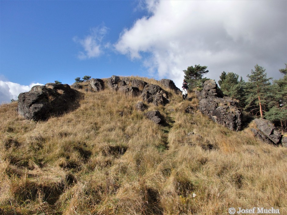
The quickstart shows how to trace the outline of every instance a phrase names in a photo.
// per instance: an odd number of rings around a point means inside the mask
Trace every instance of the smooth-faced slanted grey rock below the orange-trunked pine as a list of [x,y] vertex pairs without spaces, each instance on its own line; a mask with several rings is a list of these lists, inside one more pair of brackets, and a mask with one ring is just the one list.
[[278,145],[281,143],[282,135],[276,129],[276,127],[269,121],[265,119],[255,119],[253,120],[256,124],[256,129],[251,129],[254,135],[260,138],[263,142]]

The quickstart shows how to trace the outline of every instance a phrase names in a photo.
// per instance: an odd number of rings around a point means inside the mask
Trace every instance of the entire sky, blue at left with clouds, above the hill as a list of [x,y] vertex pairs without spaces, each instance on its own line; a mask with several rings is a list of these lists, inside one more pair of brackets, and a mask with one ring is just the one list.
[[0,104],[32,85],[90,75],[172,79],[208,66],[282,77],[287,1],[0,1]]

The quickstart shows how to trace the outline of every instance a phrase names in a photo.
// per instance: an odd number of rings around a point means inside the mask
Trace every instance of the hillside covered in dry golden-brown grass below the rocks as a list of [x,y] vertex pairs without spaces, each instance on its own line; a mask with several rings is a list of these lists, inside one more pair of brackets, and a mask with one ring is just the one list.
[[165,90],[168,105],[147,104],[165,126],[135,110],[140,97],[110,89],[82,90],[77,110],[47,121],[1,105],[0,214],[287,214],[287,149],[185,113],[195,95]]

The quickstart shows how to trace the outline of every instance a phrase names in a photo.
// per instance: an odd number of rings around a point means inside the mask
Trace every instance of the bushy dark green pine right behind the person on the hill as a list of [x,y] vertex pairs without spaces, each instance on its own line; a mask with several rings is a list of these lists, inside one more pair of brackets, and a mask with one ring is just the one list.
[[195,65],[193,66],[188,66],[187,70],[183,70],[184,72],[184,79],[187,81],[188,87],[190,89],[193,89],[195,87],[202,87],[204,81],[209,80],[208,78],[202,78],[202,76],[205,73],[208,73],[209,71],[206,70],[207,66],[200,66]]

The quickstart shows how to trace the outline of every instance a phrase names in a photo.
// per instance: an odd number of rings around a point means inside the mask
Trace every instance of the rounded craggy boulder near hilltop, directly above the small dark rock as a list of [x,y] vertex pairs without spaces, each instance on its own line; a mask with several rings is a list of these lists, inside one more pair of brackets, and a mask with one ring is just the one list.
[[153,103],[155,106],[165,105],[169,102],[167,92],[155,84],[147,84],[141,94],[143,101]]

